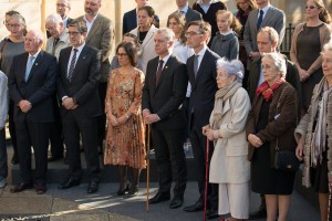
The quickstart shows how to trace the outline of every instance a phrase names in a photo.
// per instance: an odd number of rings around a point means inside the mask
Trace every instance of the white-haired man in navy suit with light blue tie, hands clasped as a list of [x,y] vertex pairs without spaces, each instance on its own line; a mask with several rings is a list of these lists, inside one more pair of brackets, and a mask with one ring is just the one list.
[[21,192],[32,188],[31,145],[34,149],[34,188],[46,191],[50,124],[54,119],[52,96],[58,74],[56,59],[41,50],[43,34],[31,30],[24,40],[25,53],[14,56],[9,75],[22,181],[10,189]]

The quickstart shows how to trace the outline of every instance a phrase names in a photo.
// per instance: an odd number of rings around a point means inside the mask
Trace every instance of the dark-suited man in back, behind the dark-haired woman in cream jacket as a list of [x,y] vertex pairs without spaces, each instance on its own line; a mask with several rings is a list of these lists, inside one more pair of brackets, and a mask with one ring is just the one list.
[[[137,7],[131,11],[127,11],[123,14],[122,19],[122,34],[128,33],[133,29],[137,28],[138,22],[137,22],[137,10],[144,6],[148,4],[148,0],[135,0]],[[154,25],[156,28],[159,28],[159,17],[154,15]]]

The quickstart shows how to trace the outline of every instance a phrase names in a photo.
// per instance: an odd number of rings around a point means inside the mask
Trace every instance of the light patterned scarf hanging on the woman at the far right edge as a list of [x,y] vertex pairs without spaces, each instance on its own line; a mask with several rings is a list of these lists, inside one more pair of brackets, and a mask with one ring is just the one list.
[[321,96],[322,99],[319,102],[319,110],[317,117],[317,125],[311,141],[311,165],[317,166],[318,160],[320,164],[323,160],[323,151],[326,150],[326,112],[328,112],[328,97],[332,92],[332,88],[329,90],[328,82],[322,86]]

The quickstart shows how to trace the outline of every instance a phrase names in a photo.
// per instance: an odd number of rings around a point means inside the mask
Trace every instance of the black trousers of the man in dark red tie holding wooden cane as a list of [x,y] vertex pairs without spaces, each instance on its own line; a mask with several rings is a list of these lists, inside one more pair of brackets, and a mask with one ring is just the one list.
[[176,177],[174,196],[183,197],[187,183],[187,166],[183,147],[184,129],[159,130],[153,125],[152,136],[155,144],[156,161],[159,173],[159,192],[169,192],[173,181],[172,164]]

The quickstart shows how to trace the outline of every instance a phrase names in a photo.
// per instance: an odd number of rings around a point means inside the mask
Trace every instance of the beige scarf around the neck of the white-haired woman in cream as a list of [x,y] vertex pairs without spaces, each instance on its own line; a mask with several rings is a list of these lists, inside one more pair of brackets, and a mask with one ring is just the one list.
[[242,85],[238,82],[230,83],[227,87],[220,88],[215,95],[215,107],[210,115],[210,126],[212,129],[217,128],[217,123],[221,119],[222,106],[225,101],[230,98]]

